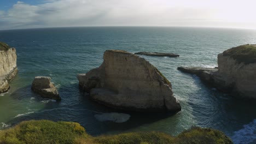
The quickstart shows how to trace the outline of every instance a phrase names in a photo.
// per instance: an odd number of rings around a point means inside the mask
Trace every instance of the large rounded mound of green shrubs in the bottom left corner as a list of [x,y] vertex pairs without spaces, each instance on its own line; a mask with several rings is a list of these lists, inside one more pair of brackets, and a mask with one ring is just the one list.
[[0,143],[74,143],[88,135],[74,122],[25,121],[13,128],[0,131]]

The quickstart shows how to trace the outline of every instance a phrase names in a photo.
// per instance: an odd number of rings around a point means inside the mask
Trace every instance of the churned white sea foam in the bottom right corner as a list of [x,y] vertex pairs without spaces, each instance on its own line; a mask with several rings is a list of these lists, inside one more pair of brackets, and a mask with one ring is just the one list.
[[234,132],[231,137],[235,144],[246,144],[256,140],[256,119],[253,122],[243,125],[243,128]]

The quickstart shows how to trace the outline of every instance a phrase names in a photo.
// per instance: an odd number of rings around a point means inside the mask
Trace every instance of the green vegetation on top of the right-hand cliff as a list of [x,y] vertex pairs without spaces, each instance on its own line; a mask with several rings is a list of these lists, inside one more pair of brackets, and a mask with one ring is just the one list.
[[232,47],[223,52],[223,56],[230,56],[238,63],[255,63],[256,62],[256,45],[240,45]]

